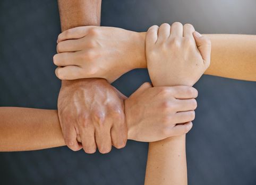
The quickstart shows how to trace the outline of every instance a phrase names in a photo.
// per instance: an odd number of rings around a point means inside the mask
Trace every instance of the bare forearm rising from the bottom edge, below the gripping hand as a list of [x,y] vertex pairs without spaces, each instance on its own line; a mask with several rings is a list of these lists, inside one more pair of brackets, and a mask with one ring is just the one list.
[[187,184],[185,135],[149,143],[145,184]]

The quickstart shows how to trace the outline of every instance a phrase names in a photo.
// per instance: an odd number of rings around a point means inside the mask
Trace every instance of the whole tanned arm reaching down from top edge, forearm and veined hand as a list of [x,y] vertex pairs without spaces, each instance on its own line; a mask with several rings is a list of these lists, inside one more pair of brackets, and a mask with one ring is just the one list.
[[[100,25],[101,0],[58,0],[58,7],[62,31]],[[73,71],[72,66],[69,69]],[[58,116],[65,142],[73,151],[83,148],[86,153],[94,153],[98,147],[101,153],[108,153],[112,145],[120,149],[126,144],[123,97],[106,80],[63,80]],[[78,136],[81,143],[76,140]]]

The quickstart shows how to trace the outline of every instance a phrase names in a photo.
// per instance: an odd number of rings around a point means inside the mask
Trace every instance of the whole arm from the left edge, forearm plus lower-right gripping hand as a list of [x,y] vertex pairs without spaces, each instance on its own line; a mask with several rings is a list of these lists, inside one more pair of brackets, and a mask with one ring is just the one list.
[[[166,110],[166,105],[177,109],[178,112],[182,112],[184,107],[194,109],[196,104],[193,98],[197,96],[197,90],[188,86],[150,87],[148,83],[142,85],[138,91],[134,92],[131,99],[128,98],[125,100],[125,109],[126,112],[129,112],[126,115],[129,140],[142,142],[158,141],[173,134],[184,134],[188,132],[192,126],[190,123],[175,126],[172,127],[174,129],[170,129],[167,124],[159,125],[158,119],[163,118],[168,112],[174,112],[172,110]],[[170,95],[170,97],[158,103],[157,100],[163,97],[163,94]],[[152,96],[156,97],[152,99]],[[181,96],[190,99],[170,101],[170,99],[174,97]],[[146,100],[148,106],[145,108],[143,103],[145,103]],[[163,104],[165,106],[161,107]],[[153,105],[160,107],[155,109]],[[146,113],[151,113],[152,120],[148,121],[148,114],[138,114],[134,116],[138,111],[141,112],[141,110]],[[160,117],[164,110],[167,113]],[[173,117],[177,118],[177,123],[184,121],[184,118]],[[187,120],[192,121],[192,119],[193,116]],[[0,120],[0,151],[40,150],[66,145],[57,110],[0,107]],[[169,125],[172,126],[171,124]],[[156,128],[159,132],[156,132]],[[171,130],[173,131],[170,132]],[[80,137],[78,137],[78,141],[81,142]]]

